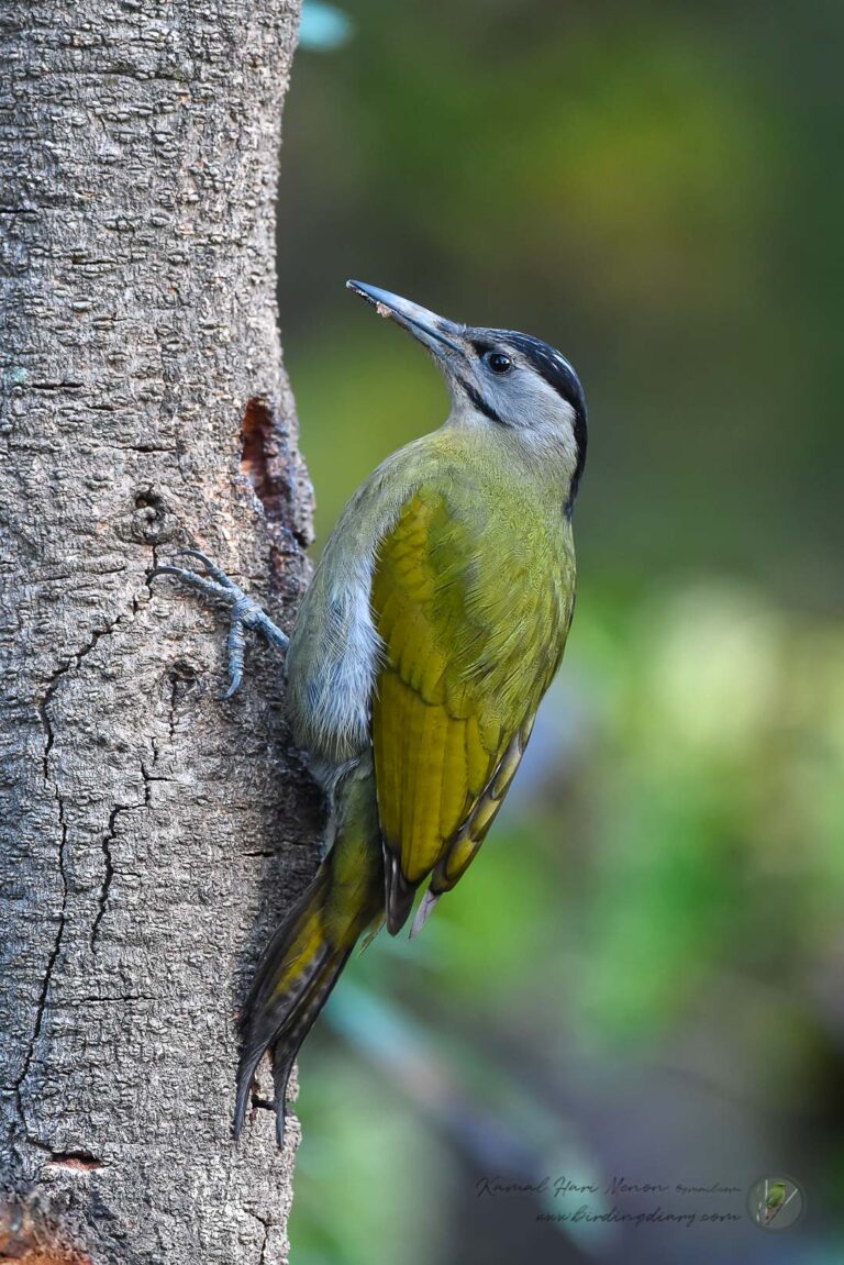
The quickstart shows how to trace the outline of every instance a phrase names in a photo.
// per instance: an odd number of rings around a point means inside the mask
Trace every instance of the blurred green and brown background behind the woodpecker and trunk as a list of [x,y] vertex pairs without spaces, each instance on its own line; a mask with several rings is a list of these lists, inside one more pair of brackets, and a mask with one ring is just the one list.
[[[840,1262],[844,8],[354,0],[304,33],[280,295],[315,553],[448,407],[349,276],[554,343],[591,434],[509,805],[302,1054],[294,1265]],[[806,1214],[766,1233],[745,1192],[783,1171]],[[672,1190],[553,1197],[614,1175]],[[610,1219],[542,1219],[583,1202]]]

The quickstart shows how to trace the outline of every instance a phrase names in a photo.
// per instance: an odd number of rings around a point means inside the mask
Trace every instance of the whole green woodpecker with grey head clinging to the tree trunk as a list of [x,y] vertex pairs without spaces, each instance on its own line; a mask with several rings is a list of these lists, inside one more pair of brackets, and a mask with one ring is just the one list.
[[294,1061],[356,944],[395,936],[424,887],[418,934],[475,860],[574,612],[587,410],[571,363],[531,335],[347,285],[430,353],[445,421],[354,492],[290,639],[201,550],[181,550],[201,571],[157,569],[229,607],[225,697],[248,630],[286,651],[294,740],[328,797],[328,851],[240,1011],[234,1135],[270,1051],[278,1145]]

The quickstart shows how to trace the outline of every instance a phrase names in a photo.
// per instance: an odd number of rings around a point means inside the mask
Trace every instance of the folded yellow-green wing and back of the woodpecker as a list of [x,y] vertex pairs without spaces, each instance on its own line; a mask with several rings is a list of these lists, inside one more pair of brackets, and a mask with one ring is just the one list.
[[472,860],[562,657],[571,550],[530,516],[500,528],[477,495],[426,484],[378,552],[372,741],[392,932],[428,874],[439,894]]

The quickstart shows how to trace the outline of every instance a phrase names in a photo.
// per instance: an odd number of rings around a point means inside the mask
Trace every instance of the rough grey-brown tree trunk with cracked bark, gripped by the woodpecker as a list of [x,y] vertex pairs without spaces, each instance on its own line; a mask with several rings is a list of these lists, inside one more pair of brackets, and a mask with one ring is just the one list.
[[[235,1012],[315,864],[281,663],[310,490],[275,276],[296,0],[0,0],[0,1257],[286,1259],[295,1126],[232,1141]],[[76,1247],[76,1255],[65,1251]]]

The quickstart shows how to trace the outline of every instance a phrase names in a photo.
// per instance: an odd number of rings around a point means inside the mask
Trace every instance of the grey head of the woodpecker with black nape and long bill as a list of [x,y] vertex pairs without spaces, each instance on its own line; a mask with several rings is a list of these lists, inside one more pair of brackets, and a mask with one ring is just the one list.
[[587,428],[583,387],[566,357],[530,334],[458,325],[377,286],[347,285],[428,348],[452,392],[454,423],[505,428],[539,460],[561,467],[571,515]]

